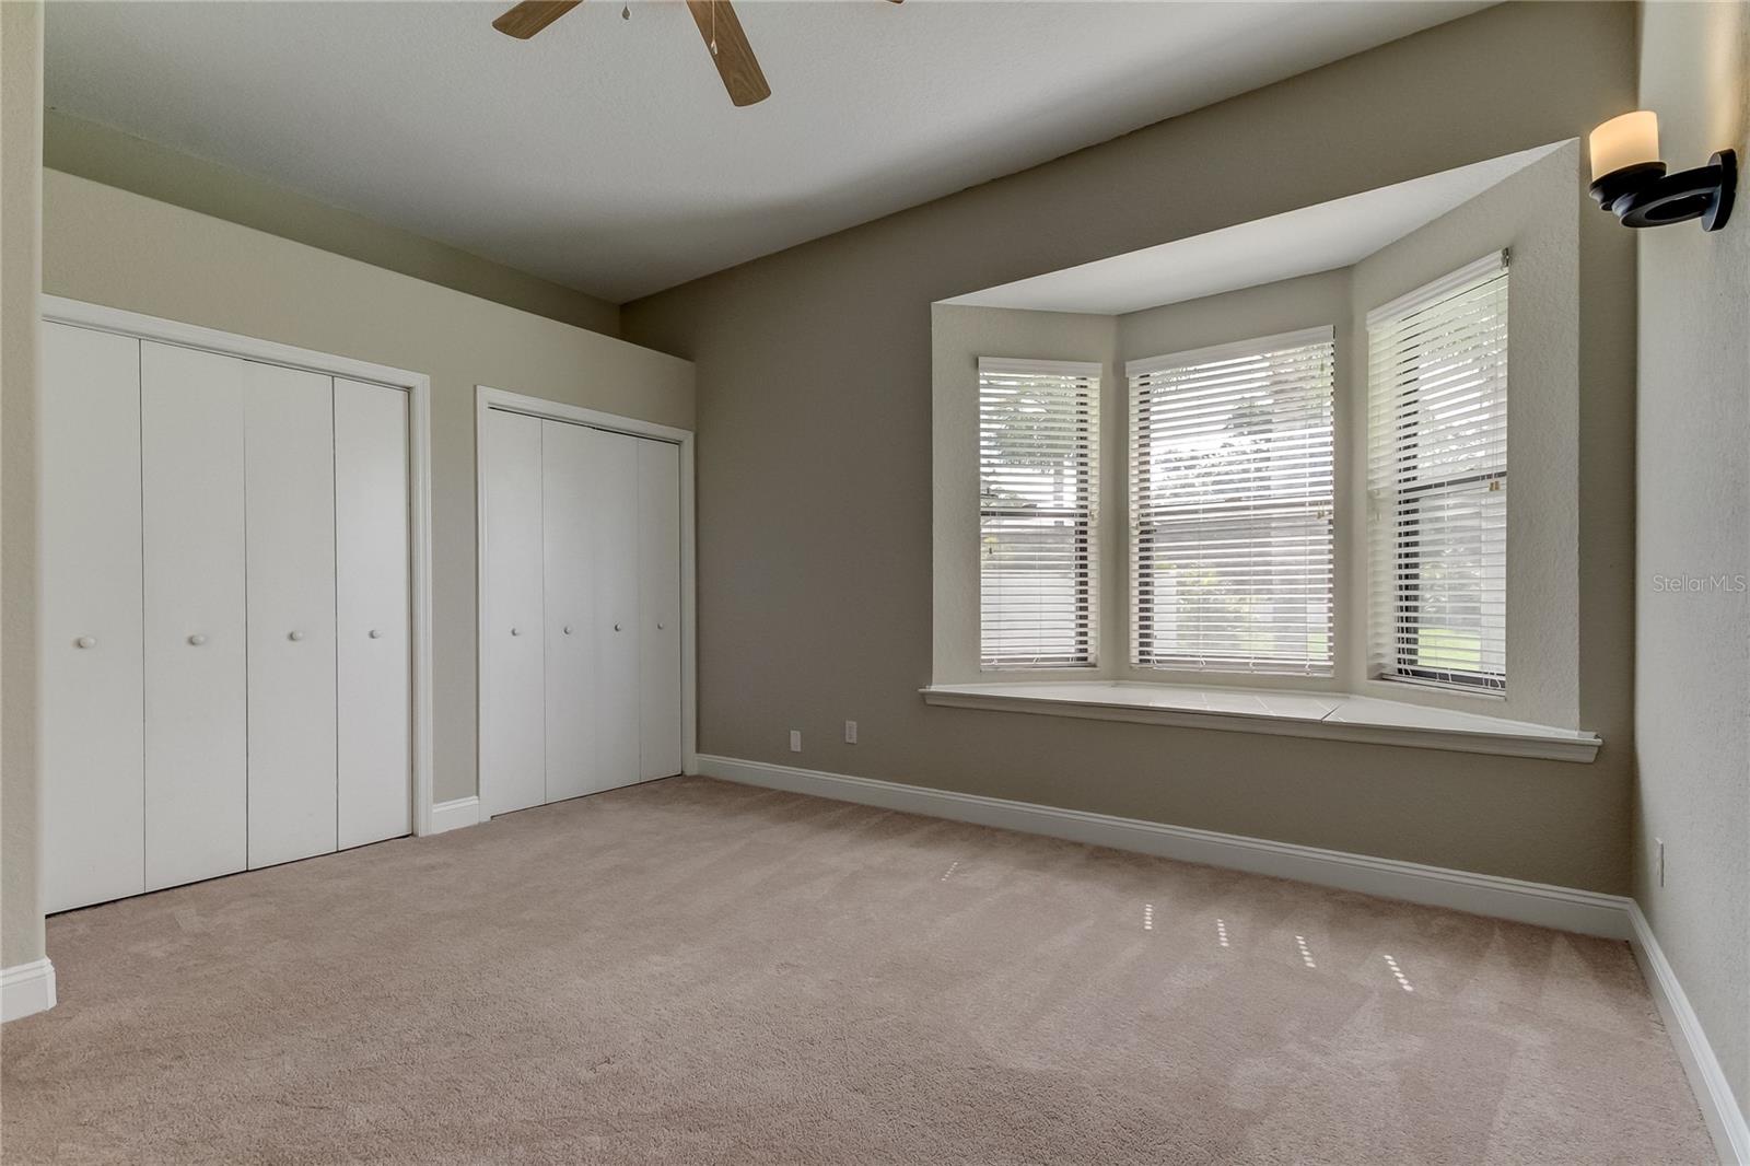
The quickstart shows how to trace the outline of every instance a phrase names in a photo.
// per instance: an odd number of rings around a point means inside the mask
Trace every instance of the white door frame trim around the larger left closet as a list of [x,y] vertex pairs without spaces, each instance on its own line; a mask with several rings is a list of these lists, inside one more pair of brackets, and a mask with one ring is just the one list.
[[140,312],[108,308],[82,299],[42,296],[40,315],[51,324],[70,324],[135,340],[217,352],[261,364],[296,368],[322,376],[362,380],[408,394],[408,523],[411,560],[410,604],[413,618],[413,833],[432,833],[432,382],[387,364],[282,345],[273,340],[222,333],[214,327],[166,320]]

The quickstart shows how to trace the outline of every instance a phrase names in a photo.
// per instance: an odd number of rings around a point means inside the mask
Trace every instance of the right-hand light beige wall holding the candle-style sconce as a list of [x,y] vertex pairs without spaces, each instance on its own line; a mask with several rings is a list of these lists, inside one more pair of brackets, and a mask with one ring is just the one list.
[[[1750,7],[1650,4],[1640,96],[1699,166],[1750,131]],[[1601,215],[1603,217],[1603,215]],[[1640,242],[1634,896],[1741,1106],[1750,1105],[1750,203],[1718,233]],[[1664,886],[1656,839],[1664,839]]]

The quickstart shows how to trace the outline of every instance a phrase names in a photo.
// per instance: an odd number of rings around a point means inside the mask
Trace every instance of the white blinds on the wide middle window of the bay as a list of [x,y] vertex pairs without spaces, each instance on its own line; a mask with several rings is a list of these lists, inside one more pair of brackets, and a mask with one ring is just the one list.
[[1132,664],[1332,671],[1334,333],[1134,361]]

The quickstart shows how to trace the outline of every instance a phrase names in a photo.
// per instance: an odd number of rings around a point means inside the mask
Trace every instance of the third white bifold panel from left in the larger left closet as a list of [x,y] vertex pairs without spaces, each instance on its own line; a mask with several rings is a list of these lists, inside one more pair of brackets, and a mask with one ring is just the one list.
[[248,865],[334,849],[334,389],[243,364]]

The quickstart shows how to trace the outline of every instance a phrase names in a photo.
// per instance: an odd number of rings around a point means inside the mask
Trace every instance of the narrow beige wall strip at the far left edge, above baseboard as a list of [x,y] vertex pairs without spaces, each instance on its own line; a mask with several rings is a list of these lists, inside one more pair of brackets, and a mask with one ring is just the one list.
[[37,912],[37,285],[42,5],[0,4],[0,966]]

